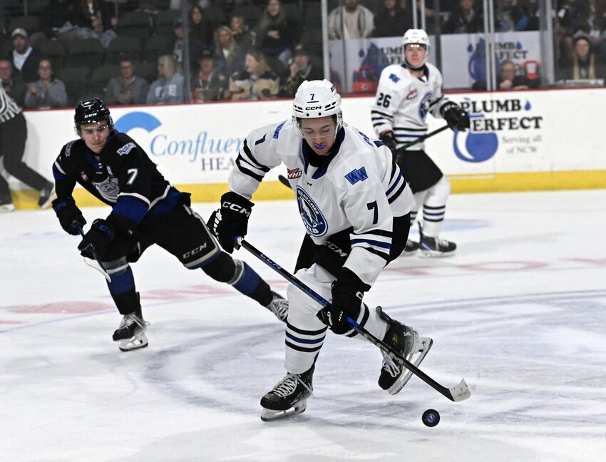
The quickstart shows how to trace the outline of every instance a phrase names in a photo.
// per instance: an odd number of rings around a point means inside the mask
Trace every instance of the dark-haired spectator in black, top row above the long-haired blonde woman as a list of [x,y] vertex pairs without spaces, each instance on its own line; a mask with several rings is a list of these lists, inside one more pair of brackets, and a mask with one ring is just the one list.
[[282,1],[269,0],[255,27],[257,48],[265,55],[279,58],[284,64],[292,58],[297,39],[297,24],[288,21]]

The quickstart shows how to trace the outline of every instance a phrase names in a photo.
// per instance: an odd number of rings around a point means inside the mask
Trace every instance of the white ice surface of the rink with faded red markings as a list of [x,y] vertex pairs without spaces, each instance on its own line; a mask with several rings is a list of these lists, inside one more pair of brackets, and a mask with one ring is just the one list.
[[[457,255],[401,257],[366,302],[433,337],[421,369],[448,387],[465,377],[471,399],[416,377],[390,396],[378,349],[329,334],[307,411],[270,423],[259,401],[284,375],[284,337],[266,309],[151,248],[133,265],[150,346],[120,352],[120,316],[78,237],[52,211],[1,214],[0,461],[604,460],[606,191],[448,205]],[[294,202],[255,205],[247,240],[287,270],[302,236]]]

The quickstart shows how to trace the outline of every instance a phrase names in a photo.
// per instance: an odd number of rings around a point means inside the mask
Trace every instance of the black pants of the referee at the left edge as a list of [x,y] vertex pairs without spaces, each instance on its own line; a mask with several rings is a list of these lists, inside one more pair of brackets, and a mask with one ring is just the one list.
[[[48,182],[42,175],[31,170],[22,160],[25,153],[26,139],[27,125],[23,113],[0,123],[0,159],[4,163],[4,170],[17,180],[39,191]],[[11,197],[9,183],[6,183],[1,175],[0,197]]]

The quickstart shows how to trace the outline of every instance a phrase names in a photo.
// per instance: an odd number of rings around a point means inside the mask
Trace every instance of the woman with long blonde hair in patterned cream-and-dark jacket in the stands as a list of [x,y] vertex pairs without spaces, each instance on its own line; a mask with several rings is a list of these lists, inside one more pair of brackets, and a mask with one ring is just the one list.
[[245,70],[230,78],[228,98],[231,101],[276,98],[279,77],[270,70],[265,57],[258,50],[246,53]]

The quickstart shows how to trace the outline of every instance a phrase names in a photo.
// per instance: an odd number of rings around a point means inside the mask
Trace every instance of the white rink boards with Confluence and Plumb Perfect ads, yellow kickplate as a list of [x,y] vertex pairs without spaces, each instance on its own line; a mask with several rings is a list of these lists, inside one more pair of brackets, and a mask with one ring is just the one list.
[[[606,188],[606,156],[601,155],[603,89],[454,93],[471,118],[471,130],[446,130],[426,143],[426,151],[451,180],[453,193]],[[344,120],[373,136],[372,97],[344,98]],[[261,125],[284,120],[291,101],[111,108],[116,127],[131,135],[171,183],[198,202],[216,201],[243,138]],[[61,146],[76,138],[73,111],[26,111],[28,141],[24,160],[51,177]],[[428,116],[429,130],[443,120]],[[292,197],[272,170],[255,200]],[[11,179],[18,208],[35,208],[37,193]],[[81,205],[96,200],[76,190]]]

